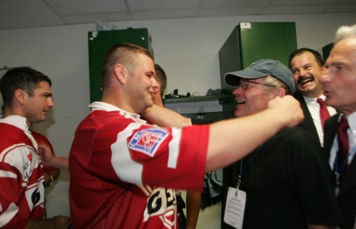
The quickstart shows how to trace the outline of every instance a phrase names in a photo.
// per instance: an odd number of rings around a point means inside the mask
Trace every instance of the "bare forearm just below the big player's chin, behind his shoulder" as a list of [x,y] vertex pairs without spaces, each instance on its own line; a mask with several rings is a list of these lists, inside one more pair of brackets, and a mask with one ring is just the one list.
[[173,110],[153,105],[141,113],[145,120],[160,127],[185,127],[192,125],[190,119],[180,115]]

